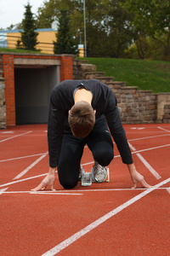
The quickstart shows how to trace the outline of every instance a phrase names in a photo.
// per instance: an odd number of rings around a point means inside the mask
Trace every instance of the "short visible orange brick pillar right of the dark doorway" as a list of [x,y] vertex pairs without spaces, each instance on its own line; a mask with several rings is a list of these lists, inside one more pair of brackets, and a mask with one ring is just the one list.
[[72,56],[61,55],[60,81],[73,79]]

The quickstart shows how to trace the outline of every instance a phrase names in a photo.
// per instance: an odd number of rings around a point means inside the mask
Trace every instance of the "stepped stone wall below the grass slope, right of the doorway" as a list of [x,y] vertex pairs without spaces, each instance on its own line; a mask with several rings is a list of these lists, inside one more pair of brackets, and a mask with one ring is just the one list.
[[[115,93],[123,124],[170,123],[170,93],[153,94],[151,90],[139,90],[137,86],[126,86],[125,82],[114,81],[105,77],[104,72],[97,72],[95,65],[88,61],[73,61],[74,79],[99,79]],[[160,96],[161,95],[161,96]],[[161,98],[163,103],[158,102]],[[162,115],[158,113],[162,108]]]

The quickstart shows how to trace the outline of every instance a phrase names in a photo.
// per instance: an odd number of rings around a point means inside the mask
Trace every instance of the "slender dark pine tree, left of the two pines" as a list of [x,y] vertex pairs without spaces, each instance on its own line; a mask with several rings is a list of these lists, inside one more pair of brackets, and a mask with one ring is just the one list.
[[24,32],[21,32],[21,41],[23,46],[26,49],[35,50],[37,42],[37,35],[38,33],[35,32],[36,26],[35,26],[35,20],[33,18],[33,14],[31,13],[31,5],[30,3],[27,3],[25,6],[26,12],[25,12],[25,19],[22,20],[22,26],[24,29]]

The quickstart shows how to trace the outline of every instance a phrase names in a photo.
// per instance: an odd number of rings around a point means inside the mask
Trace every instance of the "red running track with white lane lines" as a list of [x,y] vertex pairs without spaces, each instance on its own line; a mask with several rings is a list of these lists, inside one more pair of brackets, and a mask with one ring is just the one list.
[[[0,255],[170,255],[170,125],[124,128],[137,170],[157,187],[131,189],[114,144],[110,183],[65,190],[56,174],[56,193],[32,194],[48,172],[47,125],[0,131]],[[93,161],[84,148],[85,171]]]

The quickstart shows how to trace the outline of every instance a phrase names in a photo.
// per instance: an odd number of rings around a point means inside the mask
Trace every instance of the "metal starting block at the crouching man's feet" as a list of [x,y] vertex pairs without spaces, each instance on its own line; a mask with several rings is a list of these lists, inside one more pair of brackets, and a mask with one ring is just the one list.
[[110,182],[110,172],[109,168],[107,168],[107,176],[105,177],[105,180],[102,182],[99,182],[95,179],[94,173],[93,173],[93,168],[91,172],[85,172],[84,170],[82,171],[82,186],[91,186],[92,183],[109,183]]

